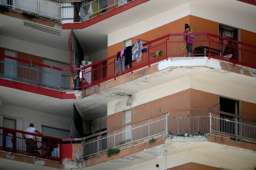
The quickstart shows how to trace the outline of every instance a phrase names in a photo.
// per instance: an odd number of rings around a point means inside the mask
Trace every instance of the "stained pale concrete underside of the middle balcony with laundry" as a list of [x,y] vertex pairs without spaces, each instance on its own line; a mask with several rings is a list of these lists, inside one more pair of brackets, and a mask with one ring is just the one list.
[[[144,69],[150,68],[147,67]],[[124,76],[131,75],[128,74]],[[215,87],[219,88],[221,88],[222,84],[228,84],[233,88],[241,89],[244,88],[244,82],[246,82],[246,94],[248,91],[254,91],[256,88],[256,79],[250,76],[207,67],[169,67],[154,74],[140,77],[134,81],[123,83],[82,99],[58,99],[3,86],[0,86],[0,98],[5,105],[69,118],[73,115],[73,104],[75,103],[83,117],[83,121],[90,121],[106,116],[107,103],[109,102],[188,76],[194,80],[191,81],[190,87],[195,89],[202,84],[205,85],[204,87],[208,87],[207,84],[211,86],[215,84]],[[201,82],[199,83],[200,86],[197,84],[198,82]],[[254,93],[251,93],[249,96],[253,98],[252,95],[254,95]]]

